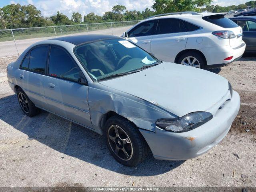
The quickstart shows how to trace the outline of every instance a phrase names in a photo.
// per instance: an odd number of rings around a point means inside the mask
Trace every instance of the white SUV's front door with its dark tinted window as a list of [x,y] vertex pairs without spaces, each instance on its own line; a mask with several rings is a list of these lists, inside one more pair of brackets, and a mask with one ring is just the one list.
[[138,24],[128,32],[128,40],[151,53],[151,39],[156,31],[157,20]]

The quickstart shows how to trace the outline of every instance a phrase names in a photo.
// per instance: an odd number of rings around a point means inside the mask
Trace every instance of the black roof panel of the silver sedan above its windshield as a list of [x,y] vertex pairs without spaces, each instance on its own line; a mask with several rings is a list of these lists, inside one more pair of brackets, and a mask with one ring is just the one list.
[[120,38],[118,36],[113,35],[98,35],[98,34],[92,34],[92,35],[73,35],[73,36],[64,36],[64,37],[58,37],[51,40],[58,40],[58,41],[65,41],[72,43],[74,45],[86,43],[86,42],[92,42],[97,40],[104,40],[104,39],[116,39]]

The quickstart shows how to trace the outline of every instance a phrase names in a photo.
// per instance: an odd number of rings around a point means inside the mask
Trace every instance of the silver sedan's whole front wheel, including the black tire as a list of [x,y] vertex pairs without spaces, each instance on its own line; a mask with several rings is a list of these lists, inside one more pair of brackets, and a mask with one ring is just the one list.
[[[117,142],[114,142],[113,140],[109,139],[109,136],[111,136],[110,131],[112,131],[113,126],[120,127],[121,129],[118,128],[119,132],[123,134],[122,136],[125,136],[124,133],[122,132],[124,131],[125,134],[128,136],[128,140],[130,141],[130,146],[128,146],[128,148],[132,148],[132,150],[130,150],[130,153],[129,153],[130,157],[127,158],[126,160],[124,160],[126,156],[124,156],[124,158],[121,157],[123,153],[121,149],[118,152],[118,155],[113,150],[113,146],[118,145]],[[144,161],[145,158],[148,156],[148,151],[149,151],[148,144],[146,143],[143,136],[140,134],[138,128],[126,118],[123,118],[121,116],[110,117],[104,125],[104,130],[105,130],[105,137],[106,137],[108,149],[112,154],[112,156],[121,164],[129,167],[133,167],[139,164],[140,162]],[[118,138],[119,137],[116,136],[116,138],[113,138],[113,139],[116,140]],[[120,138],[122,137],[120,136]],[[124,146],[128,144],[129,143],[123,144],[123,148],[125,148]]]

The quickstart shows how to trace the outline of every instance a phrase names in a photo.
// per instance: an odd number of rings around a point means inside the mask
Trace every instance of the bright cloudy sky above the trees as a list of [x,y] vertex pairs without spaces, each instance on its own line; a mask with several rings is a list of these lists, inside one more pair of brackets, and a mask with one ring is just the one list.
[[[229,6],[242,4],[250,0],[212,0],[213,5]],[[124,5],[128,10],[142,11],[151,8],[154,0],[0,0],[0,7],[12,3],[21,5],[32,4],[41,11],[42,16],[49,17],[62,12],[69,18],[72,12],[79,12],[82,16],[94,12],[102,16],[105,12],[111,11],[115,5]]]

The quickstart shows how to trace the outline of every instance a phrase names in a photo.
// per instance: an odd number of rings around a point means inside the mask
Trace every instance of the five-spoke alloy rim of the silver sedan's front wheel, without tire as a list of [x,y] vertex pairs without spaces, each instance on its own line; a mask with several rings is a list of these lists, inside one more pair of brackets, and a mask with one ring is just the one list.
[[108,143],[118,158],[128,161],[132,158],[132,142],[128,134],[118,125],[108,128]]

